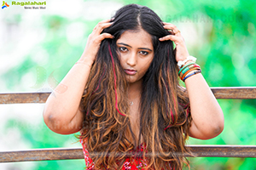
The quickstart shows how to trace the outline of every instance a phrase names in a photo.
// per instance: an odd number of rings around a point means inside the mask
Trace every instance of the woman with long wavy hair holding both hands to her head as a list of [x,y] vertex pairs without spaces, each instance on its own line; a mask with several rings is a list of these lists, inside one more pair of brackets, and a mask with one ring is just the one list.
[[181,32],[136,4],[98,23],[54,92],[44,122],[55,133],[80,131],[87,169],[182,169],[188,136],[212,139],[224,128]]

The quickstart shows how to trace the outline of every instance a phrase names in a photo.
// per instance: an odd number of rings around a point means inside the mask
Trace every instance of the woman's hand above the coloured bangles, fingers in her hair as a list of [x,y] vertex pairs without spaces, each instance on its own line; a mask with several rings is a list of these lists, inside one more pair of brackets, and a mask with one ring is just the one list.
[[168,30],[171,35],[168,35],[166,37],[160,37],[160,41],[168,41],[172,40],[176,44],[176,60],[177,62],[180,60],[184,60],[189,56],[188,49],[186,47],[185,41],[183,36],[181,35],[181,32],[177,29],[177,26],[163,22],[164,28]]

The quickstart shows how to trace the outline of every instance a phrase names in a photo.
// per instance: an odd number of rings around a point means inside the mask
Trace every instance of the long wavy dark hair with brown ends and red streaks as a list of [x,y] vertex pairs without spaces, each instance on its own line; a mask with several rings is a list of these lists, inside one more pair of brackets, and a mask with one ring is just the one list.
[[[116,41],[124,31],[143,29],[152,36],[154,59],[143,77],[139,114],[139,139],[131,131],[128,82],[120,65]],[[173,42],[160,42],[169,35],[162,20],[150,8],[137,4],[120,8],[91,68],[80,110],[84,125],[79,136],[84,140],[96,169],[121,169],[125,158],[141,157],[148,169],[182,169],[189,165],[184,146],[191,116],[188,94],[179,85]],[[143,139],[140,138],[142,136]],[[132,142],[132,141],[133,142]],[[142,147],[143,152],[136,152]],[[134,144],[135,143],[135,144]]]

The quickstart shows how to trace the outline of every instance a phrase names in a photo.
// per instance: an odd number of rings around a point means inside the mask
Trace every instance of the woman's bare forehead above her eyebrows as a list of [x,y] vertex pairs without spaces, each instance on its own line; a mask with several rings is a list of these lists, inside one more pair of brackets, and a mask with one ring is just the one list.
[[124,42],[134,48],[153,48],[152,36],[143,29],[124,31],[117,43]]

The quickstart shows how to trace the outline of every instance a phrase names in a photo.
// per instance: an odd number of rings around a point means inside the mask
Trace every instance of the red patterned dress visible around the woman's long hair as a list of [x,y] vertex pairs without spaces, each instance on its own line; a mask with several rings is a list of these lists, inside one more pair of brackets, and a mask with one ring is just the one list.
[[[85,160],[86,169],[87,170],[93,170],[94,169],[94,163],[90,159],[88,150],[86,150],[86,144],[83,142],[82,139],[80,139],[80,143],[83,146],[84,160]],[[139,150],[143,151],[144,148],[145,148],[145,144],[140,144],[140,147],[139,146],[137,147],[137,151],[139,151]],[[142,158],[135,159],[135,161],[133,161],[132,163],[131,163],[130,158],[126,158],[122,170],[144,169],[143,165],[147,166],[146,161],[143,161]]]

